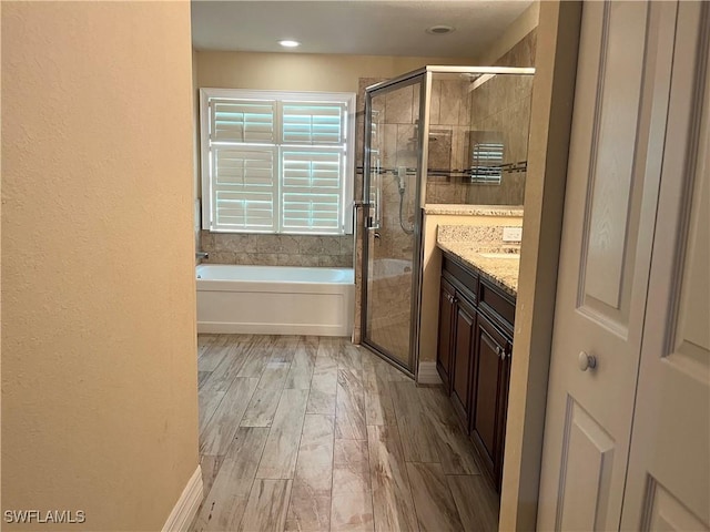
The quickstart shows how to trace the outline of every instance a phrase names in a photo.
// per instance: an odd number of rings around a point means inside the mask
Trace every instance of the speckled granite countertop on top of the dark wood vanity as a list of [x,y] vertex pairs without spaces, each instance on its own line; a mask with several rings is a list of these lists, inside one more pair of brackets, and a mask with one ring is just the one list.
[[[518,273],[520,270],[520,255],[518,253],[505,253],[500,248],[481,248],[480,244],[471,242],[442,242],[437,241],[440,249],[458,257],[464,264],[467,264],[481,275],[490,279],[495,285],[503,288],[511,296],[518,295]],[[486,253],[505,254],[507,257],[487,257]]]

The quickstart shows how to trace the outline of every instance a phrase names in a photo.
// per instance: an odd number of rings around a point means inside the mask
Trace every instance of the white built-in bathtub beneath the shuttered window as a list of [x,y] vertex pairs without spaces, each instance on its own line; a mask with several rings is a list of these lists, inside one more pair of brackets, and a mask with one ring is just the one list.
[[201,264],[197,332],[349,336],[352,268]]

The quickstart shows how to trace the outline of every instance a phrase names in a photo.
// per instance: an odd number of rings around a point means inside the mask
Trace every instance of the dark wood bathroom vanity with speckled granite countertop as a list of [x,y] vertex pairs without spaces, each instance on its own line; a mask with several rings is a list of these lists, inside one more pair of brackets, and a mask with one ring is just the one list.
[[519,255],[466,243],[438,246],[436,368],[484,472],[500,491]]

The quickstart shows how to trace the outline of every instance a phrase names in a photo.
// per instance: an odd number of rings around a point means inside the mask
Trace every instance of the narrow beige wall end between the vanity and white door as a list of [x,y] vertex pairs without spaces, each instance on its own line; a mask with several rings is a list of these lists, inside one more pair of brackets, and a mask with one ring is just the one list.
[[537,519],[580,17],[580,2],[540,6],[500,530],[534,530]]

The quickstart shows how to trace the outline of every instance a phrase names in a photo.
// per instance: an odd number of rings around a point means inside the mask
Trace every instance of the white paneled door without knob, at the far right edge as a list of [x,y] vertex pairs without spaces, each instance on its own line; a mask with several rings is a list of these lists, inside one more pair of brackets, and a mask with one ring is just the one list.
[[627,530],[710,529],[710,6],[681,2],[677,34]]

